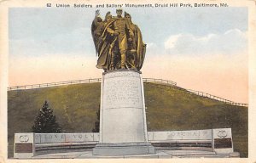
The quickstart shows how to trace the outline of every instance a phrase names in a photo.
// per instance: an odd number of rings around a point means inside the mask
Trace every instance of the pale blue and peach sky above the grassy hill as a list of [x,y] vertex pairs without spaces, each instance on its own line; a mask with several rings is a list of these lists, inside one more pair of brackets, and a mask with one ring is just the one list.
[[[148,45],[143,77],[247,103],[247,8],[124,9]],[[95,10],[9,9],[9,86],[101,77]]]

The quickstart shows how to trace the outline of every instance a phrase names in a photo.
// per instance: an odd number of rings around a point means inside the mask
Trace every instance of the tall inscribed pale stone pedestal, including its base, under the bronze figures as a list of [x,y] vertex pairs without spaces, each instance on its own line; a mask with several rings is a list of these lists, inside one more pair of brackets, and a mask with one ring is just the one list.
[[100,142],[93,155],[154,154],[148,143],[143,78],[133,70],[103,73]]

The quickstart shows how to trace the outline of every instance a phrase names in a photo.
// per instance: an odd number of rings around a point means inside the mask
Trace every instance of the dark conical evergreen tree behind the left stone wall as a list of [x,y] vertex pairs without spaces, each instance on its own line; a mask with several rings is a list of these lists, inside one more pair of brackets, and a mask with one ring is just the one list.
[[56,122],[56,117],[53,115],[53,110],[49,107],[47,101],[44,106],[39,110],[35,123],[32,126],[32,132],[36,133],[55,133],[61,132],[61,127]]

